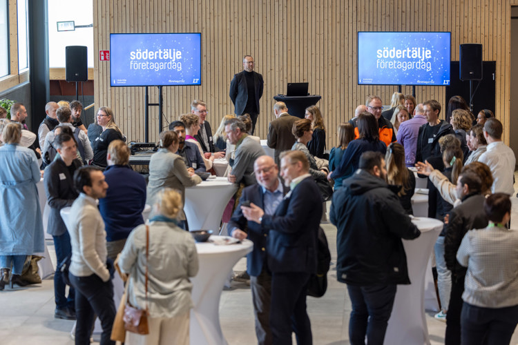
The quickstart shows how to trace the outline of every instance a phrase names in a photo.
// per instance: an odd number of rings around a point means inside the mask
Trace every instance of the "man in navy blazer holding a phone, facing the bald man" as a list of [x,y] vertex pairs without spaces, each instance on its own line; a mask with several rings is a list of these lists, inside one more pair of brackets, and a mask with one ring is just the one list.
[[273,344],[312,344],[311,323],[306,311],[309,276],[316,273],[316,242],[322,197],[309,175],[309,161],[301,151],[280,155],[281,175],[289,193],[274,215],[251,203],[241,206],[249,221],[267,234],[267,265],[271,271],[270,328]]

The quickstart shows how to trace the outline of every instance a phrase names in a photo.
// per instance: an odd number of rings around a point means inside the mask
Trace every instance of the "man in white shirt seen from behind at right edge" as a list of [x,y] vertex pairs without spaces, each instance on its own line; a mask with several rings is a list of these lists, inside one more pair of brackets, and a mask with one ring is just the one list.
[[515,152],[501,139],[503,132],[502,123],[497,119],[488,119],[484,124],[483,134],[488,141],[488,148],[479,161],[491,169],[493,185],[491,193],[515,194],[514,175],[516,157]]

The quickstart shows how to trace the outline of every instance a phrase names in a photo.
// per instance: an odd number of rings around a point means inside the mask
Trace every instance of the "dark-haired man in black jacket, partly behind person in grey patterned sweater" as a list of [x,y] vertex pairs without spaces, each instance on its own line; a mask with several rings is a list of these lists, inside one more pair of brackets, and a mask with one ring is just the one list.
[[481,179],[470,171],[463,172],[457,179],[457,197],[462,204],[448,214],[448,224],[444,237],[444,259],[448,270],[452,271],[452,291],[446,314],[445,345],[461,344],[462,293],[466,268],[457,262],[457,250],[468,230],[488,226],[483,204],[486,197],[481,195]]

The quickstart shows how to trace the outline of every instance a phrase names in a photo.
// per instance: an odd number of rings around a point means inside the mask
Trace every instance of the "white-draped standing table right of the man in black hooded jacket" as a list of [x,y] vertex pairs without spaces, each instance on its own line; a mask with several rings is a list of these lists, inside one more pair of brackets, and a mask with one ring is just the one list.
[[425,275],[428,259],[443,223],[426,217],[414,218],[412,222],[421,230],[418,238],[412,241],[403,240],[412,284],[397,287],[394,308],[383,343],[385,345],[430,344],[424,306]]

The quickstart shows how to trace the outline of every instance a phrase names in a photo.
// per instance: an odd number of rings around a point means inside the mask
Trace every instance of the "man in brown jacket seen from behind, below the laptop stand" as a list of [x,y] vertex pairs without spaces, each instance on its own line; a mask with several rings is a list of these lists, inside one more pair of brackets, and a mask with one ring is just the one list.
[[284,102],[275,103],[274,114],[276,119],[270,122],[267,145],[275,150],[275,164],[279,166],[280,152],[291,150],[291,146],[295,144],[296,139],[291,132],[291,128],[299,118],[288,114],[288,108]]

